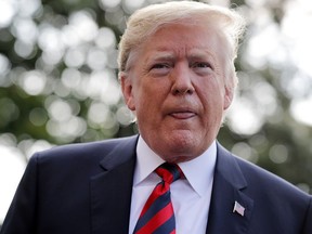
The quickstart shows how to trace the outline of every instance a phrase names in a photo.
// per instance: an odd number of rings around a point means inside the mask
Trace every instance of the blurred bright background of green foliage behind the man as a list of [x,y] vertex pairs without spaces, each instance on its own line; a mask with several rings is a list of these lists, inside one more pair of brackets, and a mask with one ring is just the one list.
[[[129,14],[152,2],[0,1],[0,224],[35,152],[136,132],[117,44]],[[219,141],[311,193],[312,1],[209,2],[248,21]]]

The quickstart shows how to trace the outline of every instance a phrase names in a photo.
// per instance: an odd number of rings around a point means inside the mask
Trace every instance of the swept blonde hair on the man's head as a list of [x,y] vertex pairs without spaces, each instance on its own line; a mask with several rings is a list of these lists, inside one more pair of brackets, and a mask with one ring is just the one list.
[[130,53],[135,52],[148,36],[164,25],[186,21],[191,24],[212,23],[220,27],[230,44],[229,60],[232,63],[231,69],[235,73],[234,60],[237,56],[239,38],[245,30],[244,18],[233,10],[193,1],[152,4],[134,12],[119,43],[119,72],[127,72]]

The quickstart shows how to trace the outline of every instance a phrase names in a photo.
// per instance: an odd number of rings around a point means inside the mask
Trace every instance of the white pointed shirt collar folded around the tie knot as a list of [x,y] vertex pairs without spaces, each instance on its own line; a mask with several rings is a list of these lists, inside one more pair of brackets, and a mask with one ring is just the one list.
[[[213,141],[207,151],[198,157],[178,164],[188,183],[199,196],[205,194],[209,188],[210,182],[213,180],[216,160],[217,144],[216,141]],[[165,162],[165,160],[153,152],[140,135],[136,145],[136,166],[133,185],[136,186],[141,182],[148,180],[150,176],[153,177],[153,171],[162,162]]]

